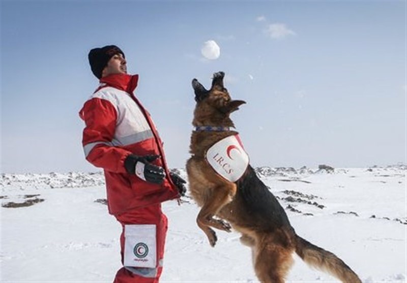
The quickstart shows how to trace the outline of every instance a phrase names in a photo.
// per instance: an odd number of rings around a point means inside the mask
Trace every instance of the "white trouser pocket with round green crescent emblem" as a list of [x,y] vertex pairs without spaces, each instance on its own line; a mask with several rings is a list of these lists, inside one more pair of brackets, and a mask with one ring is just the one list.
[[125,225],[124,266],[157,267],[156,225]]

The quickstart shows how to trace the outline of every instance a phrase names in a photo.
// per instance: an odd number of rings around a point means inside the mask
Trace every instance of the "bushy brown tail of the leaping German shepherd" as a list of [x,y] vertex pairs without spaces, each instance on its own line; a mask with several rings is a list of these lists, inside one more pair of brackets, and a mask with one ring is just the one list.
[[308,265],[328,272],[342,282],[362,282],[358,275],[337,256],[298,235],[296,235],[296,253]]

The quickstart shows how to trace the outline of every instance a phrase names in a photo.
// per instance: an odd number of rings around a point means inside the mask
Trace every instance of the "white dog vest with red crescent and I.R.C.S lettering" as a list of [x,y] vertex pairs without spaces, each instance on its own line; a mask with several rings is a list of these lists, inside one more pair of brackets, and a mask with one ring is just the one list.
[[239,180],[249,165],[249,155],[239,135],[216,142],[208,149],[206,159],[216,173],[230,182]]

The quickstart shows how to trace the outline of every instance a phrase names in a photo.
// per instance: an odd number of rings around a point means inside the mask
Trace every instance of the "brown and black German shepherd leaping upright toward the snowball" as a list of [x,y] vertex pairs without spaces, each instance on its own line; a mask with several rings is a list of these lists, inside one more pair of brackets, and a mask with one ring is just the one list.
[[192,124],[197,128],[192,132],[191,158],[186,169],[190,193],[201,207],[196,222],[211,246],[217,241],[212,228],[240,232],[241,242],[252,249],[254,270],[261,282],[284,282],[294,252],[308,265],[343,282],[361,282],[333,253],[296,234],[284,209],[250,165],[235,182],[226,180],[210,166],[207,150],[216,142],[238,134],[229,130],[235,128],[230,113],[245,103],[231,100],[223,77],[223,72],[215,73],[210,90],[192,80],[196,101]]

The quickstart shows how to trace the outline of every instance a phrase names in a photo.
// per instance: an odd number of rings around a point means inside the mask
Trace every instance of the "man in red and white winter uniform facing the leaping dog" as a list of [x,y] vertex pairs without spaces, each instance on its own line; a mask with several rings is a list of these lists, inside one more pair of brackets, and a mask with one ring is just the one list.
[[185,194],[185,180],[170,173],[149,112],[134,96],[138,75],[128,75],[114,45],[89,52],[100,85],[79,115],[85,122],[86,160],[104,169],[109,213],[122,224],[123,268],[114,283],[158,282],[167,218],[161,202]]

